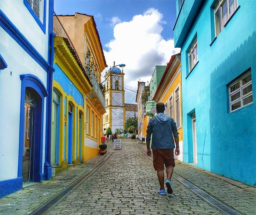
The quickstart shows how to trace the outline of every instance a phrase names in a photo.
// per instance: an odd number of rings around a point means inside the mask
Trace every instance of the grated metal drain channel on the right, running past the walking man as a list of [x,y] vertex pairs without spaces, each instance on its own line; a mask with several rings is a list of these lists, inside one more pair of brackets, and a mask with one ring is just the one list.
[[[139,146],[139,144],[136,144],[136,145],[140,149],[140,151],[143,152],[143,154],[145,155],[146,151],[143,148],[141,148],[141,146]],[[149,160],[153,161],[152,157],[147,156],[147,158]],[[191,184],[189,181],[182,178],[181,176],[173,173],[173,178],[175,178],[177,181],[179,181],[181,184],[183,184],[186,188],[188,188],[190,191],[192,191],[195,195],[200,197],[202,200],[207,202],[209,205],[217,208],[222,213],[227,214],[227,215],[241,215],[241,213],[239,213],[235,209],[231,208],[229,205],[226,205],[226,204],[220,202],[218,199],[214,198],[213,196],[205,193],[203,190],[194,186],[193,184]]]

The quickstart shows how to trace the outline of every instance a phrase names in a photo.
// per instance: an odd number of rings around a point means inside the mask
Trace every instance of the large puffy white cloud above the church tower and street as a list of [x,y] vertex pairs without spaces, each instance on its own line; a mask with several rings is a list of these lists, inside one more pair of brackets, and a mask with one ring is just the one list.
[[[106,62],[109,66],[113,61],[126,64],[125,87],[137,91],[139,78],[150,81],[155,65],[166,65],[180,49],[174,48],[173,39],[163,39],[161,32],[166,21],[157,9],[150,8],[129,22],[120,22],[119,18],[116,21],[114,39],[105,44],[109,49],[104,50]],[[135,93],[126,90],[126,103],[135,103],[135,98]]]

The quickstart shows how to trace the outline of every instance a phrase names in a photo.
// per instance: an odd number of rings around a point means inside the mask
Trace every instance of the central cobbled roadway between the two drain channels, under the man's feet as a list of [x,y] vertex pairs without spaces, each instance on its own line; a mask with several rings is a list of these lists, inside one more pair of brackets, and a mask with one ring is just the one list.
[[[112,151],[112,144],[108,150]],[[111,149],[110,149],[111,148]],[[153,164],[133,140],[112,156],[48,215],[221,214],[177,181],[173,195],[159,195]]]

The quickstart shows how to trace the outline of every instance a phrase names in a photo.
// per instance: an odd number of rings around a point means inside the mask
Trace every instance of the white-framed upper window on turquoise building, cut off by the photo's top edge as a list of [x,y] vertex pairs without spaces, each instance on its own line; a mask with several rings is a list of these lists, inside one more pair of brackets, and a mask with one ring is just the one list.
[[237,0],[218,0],[214,6],[215,36],[217,37],[237,9]]

